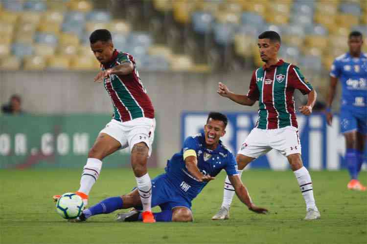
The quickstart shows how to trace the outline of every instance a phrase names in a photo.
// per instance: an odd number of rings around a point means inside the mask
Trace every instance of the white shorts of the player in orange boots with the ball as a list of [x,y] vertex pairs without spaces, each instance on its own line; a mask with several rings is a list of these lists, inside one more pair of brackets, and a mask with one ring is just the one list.
[[154,130],[156,119],[137,118],[131,121],[119,122],[112,119],[100,133],[115,138],[121,144],[121,149],[133,146],[139,142],[145,142],[149,148],[149,156],[152,154],[152,143],[154,141]]

